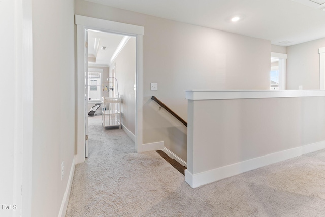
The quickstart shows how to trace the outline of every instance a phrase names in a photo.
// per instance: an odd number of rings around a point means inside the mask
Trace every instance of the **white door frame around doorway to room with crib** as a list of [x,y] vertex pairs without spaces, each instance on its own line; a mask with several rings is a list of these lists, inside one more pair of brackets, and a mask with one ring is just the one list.
[[76,164],[85,161],[85,32],[90,28],[103,32],[119,33],[135,36],[137,39],[137,72],[136,72],[136,151],[142,147],[142,107],[143,107],[143,35],[144,27],[75,15],[77,25],[77,96],[76,96]]

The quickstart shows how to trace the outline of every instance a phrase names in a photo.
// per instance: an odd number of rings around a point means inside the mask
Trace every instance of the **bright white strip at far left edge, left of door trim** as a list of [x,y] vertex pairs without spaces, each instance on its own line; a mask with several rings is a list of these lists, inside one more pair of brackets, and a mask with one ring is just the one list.
[[[3,138],[0,145],[0,204],[15,204],[14,202],[14,142],[15,119],[13,106],[15,105],[15,2],[6,0],[0,2],[0,27],[6,29],[0,40],[1,80],[0,90],[3,93],[0,112],[0,135]],[[1,207],[0,207],[1,208]],[[12,210],[0,209],[1,216],[12,215]]]

